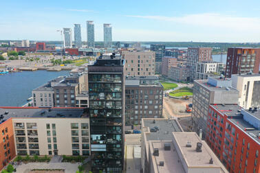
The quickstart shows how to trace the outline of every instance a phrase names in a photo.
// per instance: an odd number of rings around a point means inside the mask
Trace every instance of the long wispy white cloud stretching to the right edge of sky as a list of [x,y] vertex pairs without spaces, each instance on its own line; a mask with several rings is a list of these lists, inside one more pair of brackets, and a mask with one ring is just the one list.
[[158,21],[170,21],[173,23],[199,27],[215,27],[215,29],[233,30],[238,32],[260,32],[260,18],[257,17],[240,17],[215,13],[189,14],[186,16],[127,16]]

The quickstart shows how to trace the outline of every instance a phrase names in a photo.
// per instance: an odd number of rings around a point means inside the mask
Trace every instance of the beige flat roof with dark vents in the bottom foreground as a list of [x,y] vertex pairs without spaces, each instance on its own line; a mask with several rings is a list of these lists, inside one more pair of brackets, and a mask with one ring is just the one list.
[[164,141],[149,141],[151,173],[228,173],[228,170],[195,132],[172,132]]

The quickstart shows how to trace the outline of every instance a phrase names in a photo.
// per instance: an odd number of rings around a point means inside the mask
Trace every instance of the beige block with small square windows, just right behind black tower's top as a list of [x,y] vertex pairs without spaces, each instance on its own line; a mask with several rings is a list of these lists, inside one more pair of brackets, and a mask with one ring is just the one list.
[[154,51],[122,51],[126,76],[154,76]]

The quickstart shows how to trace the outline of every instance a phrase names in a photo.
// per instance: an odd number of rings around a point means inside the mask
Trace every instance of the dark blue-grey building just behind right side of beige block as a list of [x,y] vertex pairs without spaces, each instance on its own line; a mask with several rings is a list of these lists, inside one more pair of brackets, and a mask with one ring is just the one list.
[[151,51],[155,51],[155,72],[162,73],[162,57],[165,56],[165,45],[151,45]]

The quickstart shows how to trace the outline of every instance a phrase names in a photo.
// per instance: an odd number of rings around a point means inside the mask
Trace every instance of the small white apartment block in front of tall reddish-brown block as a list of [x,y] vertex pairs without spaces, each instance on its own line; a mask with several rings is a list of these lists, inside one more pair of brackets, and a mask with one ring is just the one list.
[[221,62],[197,62],[195,80],[207,80],[208,76],[220,76],[224,64]]

